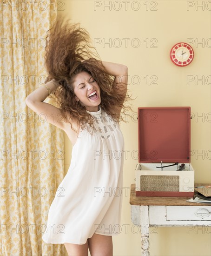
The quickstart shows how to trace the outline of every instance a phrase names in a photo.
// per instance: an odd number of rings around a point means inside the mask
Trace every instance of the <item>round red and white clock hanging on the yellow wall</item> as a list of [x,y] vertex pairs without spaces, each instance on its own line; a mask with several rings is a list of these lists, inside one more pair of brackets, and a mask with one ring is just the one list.
[[178,43],[171,48],[171,61],[180,67],[187,66],[193,60],[194,52],[192,47],[186,43]]

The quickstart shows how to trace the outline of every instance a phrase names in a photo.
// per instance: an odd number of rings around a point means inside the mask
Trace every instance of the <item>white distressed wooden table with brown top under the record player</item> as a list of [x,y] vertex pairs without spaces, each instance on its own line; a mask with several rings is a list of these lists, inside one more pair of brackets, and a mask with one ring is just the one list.
[[[205,186],[210,184],[195,184]],[[150,226],[210,226],[211,206],[186,202],[190,197],[136,196],[131,184],[131,220],[141,229],[141,255],[149,256]]]

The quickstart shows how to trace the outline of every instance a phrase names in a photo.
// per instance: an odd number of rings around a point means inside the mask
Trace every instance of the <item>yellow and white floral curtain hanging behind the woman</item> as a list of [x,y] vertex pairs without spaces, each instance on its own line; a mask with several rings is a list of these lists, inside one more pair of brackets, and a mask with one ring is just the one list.
[[64,245],[41,238],[65,175],[64,133],[25,103],[46,78],[56,7],[55,0],[0,0],[0,255],[65,255]]

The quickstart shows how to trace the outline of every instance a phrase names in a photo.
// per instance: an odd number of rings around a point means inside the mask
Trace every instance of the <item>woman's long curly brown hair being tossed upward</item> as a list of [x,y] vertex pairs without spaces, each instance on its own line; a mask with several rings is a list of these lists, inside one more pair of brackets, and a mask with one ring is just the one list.
[[85,106],[78,106],[74,99],[74,77],[86,71],[99,85],[102,110],[112,116],[114,121],[125,121],[122,115],[114,113],[114,109],[115,106],[121,106],[124,114],[125,109],[132,110],[125,106],[130,96],[125,96],[124,90],[119,90],[122,84],[114,83],[114,77],[106,73],[97,50],[90,44],[91,39],[86,29],[81,28],[80,23],[71,24],[68,21],[59,19],[47,31],[45,65],[48,76],[45,83],[53,79],[59,83],[49,97],[57,101],[64,120],[71,124],[73,130],[72,121],[82,129],[86,128],[87,123],[94,128],[93,116],[86,112]]

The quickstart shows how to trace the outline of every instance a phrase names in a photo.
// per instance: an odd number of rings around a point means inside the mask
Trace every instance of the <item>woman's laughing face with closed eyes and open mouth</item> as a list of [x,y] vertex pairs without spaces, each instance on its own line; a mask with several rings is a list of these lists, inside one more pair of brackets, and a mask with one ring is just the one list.
[[[80,72],[73,80],[75,100],[85,106],[88,111],[98,111],[100,99],[100,88],[92,75],[86,71]],[[92,95],[89,97],[90,95]]]

